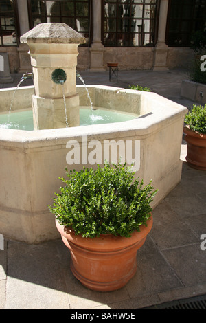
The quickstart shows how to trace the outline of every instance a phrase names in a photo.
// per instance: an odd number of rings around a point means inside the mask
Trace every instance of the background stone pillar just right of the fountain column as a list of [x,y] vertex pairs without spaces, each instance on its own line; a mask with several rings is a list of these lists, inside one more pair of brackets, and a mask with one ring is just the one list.
[[93,43],[90,50],[90,70],[105,71],[104,46],[101,42],[101,1],[93,0]]

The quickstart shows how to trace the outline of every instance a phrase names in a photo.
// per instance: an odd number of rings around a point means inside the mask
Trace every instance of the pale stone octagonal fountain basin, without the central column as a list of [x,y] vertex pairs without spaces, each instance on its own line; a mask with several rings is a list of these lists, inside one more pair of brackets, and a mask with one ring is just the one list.
[[[156,93],[88,86],[94,107],[133,115],[132,120],[60,129],[0,129],[0,228],[8,238],[40,243],[58,238],[53,203],[65,167],[95,168],[104,160],[132,164],[137,177],[159,189],[155,206],[181,180],[183,121],[187,108]],[[14,88],[0,90],[0,111],[8,113]],[[90,107],[84,86],[80,106]],[[31,110],[34,87],[16,91],[12,111]],[[62,104],[62,110],[64,107]],[[116,120],[115,120],[116,121]]]

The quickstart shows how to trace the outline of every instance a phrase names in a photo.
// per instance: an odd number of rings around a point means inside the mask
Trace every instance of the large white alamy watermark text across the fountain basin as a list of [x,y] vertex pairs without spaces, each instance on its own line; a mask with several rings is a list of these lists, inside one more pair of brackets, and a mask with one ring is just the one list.
[[140,168],[140,140],[90,140],[82,136],[81,142],[69,140],[66,160],[69,165],[104,164],[105,161],[133,166],[133,170]]

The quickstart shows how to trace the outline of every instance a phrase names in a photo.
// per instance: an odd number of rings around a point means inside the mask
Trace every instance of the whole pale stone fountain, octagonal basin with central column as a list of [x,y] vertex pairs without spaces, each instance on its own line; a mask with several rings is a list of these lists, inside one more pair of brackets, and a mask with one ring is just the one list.
[[[140,116],[78,126],[79,105],[90,106],[84,86],[76,86],[77,48],[84,38],[67,25],[45,23],[21,41],[30,47],[34,87],[20,87],[12,109],[33,107],[35,130],[0,128],[0,234],[27,243],[58,238],[54,216],[47,208],[60,187],[58,177],[65,176],[65,167],[80,170],[103,165],[105,157],[115,161],[115,156],[118,161],[124,155],[127,164],[135,159],[137,177],[145,184],[152,179],[159,189],[152,204],[155,208],[181,181],[187,109],[156,93],[90,85],[94,106]],[[8,113],[14,91],[0,90],[1,113]]]

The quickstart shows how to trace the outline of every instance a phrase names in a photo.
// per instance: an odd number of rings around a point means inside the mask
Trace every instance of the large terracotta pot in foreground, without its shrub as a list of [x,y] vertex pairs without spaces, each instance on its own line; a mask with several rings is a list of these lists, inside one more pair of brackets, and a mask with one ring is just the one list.
[[142,225],[130,238],[112,234],[83,238],[58,221],[56,227],[71,252],[71,271],[82,285],[94,291],[114,291],[135,275],[137,250],[152,228],[152,216],[148,225]]

